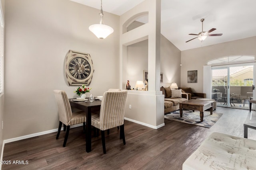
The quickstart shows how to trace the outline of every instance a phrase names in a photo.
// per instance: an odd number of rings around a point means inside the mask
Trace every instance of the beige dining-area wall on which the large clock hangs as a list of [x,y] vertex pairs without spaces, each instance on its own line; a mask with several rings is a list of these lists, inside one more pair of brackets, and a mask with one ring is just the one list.
[[[94,96],[119,86],[119,16],[104,12],[114,33],[98,39],[88,27],[99,10],[69,0],[8,0],[5,4],[4,139],[58,127],[54,89],[68,86],[64,59],[69,49],[90,53]],[[89,94],[90,95],[90,94]]]

